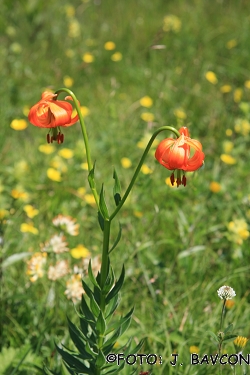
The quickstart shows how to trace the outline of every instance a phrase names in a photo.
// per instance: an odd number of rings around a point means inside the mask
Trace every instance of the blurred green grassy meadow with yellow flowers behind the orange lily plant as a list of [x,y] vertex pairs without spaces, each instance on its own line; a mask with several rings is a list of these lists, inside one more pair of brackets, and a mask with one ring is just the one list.
[[[32,282],[27,274],[32,255],[60,233],[53,218],[71,216],[79,224],[77,236],[67,235],[71,250],[101,253],[79,123],[64,130],[62,145],[48,149],[46,129],[27,120],[44,90],[65,86],[85,107],[98,189],[105,182],[110,205],[113,167],[125,191],[157,127],[185,125],[202,142],[205,166],[187,175],[185,188],[169,186],[171,172],[155,161],[154,150],[148,155],[119,214],[122,240],[111,259],[117,274],[126,268],[118,313],[135,306],[117,345],[145,337],[142,353],[162,357],[138,374],[217,373],[211,365],[191,366],[190,352],[217,352],[208,331],[219,329],[220,286],[236,292],[227,323],[250,337],[250,2],[0,4],[0,374],[42,374],[44,364],[67,373],[55,342],[70,346],[67,315],[77,322],[64,294],[68,276],[51,281],[44,271]],[[116,224],[113,239],[117,232]],[[82,267],[72,252],[63,257],[71,268]],[[232,343],[225,352],[235,352]],[[169,365],[172,353],[183,366]],[[130,372],[126,366],[122,373]],[[232,370],[225,366],[223,373]]]

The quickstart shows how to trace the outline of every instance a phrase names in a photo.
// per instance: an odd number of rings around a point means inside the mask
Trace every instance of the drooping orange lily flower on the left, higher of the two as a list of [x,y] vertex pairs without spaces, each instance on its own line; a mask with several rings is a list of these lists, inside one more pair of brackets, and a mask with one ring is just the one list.
[[[65,99],[72,100],[70,96]],[[70,103],[57,100],[57,94],[45,91],[42,99],[30,109],[28,118],[32,125],[51,129],[52,135],[47,134],[48,143],[52,143],[53,140],[63,143],[64,135],[60,127],[68,127],[78,121],[78,115],[72,118],[72,112]]]

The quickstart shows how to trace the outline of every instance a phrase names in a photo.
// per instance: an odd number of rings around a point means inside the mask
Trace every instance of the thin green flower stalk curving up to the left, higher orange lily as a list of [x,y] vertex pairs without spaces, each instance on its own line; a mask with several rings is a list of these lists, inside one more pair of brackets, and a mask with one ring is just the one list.
[[[77,114],[79,116],[79,121],[80,121],[81,129],[82,129],[82,135],[83,135],[83,140],[84,140],[85,150],[86,150],[88,171],[90,172],[93,169],[93,163],[92,163],[91,155],[90,155],[90,147],[89,147],[89,139],[88,139],[88,135],[87,135],[87,130],[86,130],[85,122],[84,122],[84,119],[83,119],[83,116],[82,116],[82,113],[81,113],[79,101],[77,100],[73,91],[71,91],[69,89],[66,89],[66,88],[62,88],[62,89],[57,90],[55,92],[55,94],[59,95],[61,92],[66,92],[66,94],[71,96],[71,98],[73,99]],[[93,183],[93,185],[90,186],[90,188],[91,188],[93,196],[95,198],[96,205],[99,209],[99,197],[98,197],[98,194],[97,194],[97,191],[96,191],[95,183]]]

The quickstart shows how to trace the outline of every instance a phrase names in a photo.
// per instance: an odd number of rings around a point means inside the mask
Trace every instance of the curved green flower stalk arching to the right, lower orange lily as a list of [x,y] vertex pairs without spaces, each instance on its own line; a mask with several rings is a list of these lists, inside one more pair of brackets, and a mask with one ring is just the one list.
[[138,174],[139,174],[139,172],[140,172],[140,170],[141,170],[142,164],[144,163],[144,160],[145,160],[145,158],[146,158],[146,156],[147,156],[147,154],[148,154],[148,152],[149,152],[149,150],[150,150],[150,148],[151,148],[151,146],[152,146],[152,144],[153,144],[155,138],[157,137],[157,135],[158,135],[160,132],[162,132],[162,131],[164,131],[164,130],[170,130],[170,131],[172,131],[177,137],[180,137],[180,133],[179,133],[175,128],[173,128],[172,126],[162,126],[162,127],[160,127],[159,129],[157,129],[157,130],[153,133],[152,137],[150,138],[150,140],[149,140],[149,142],[148,142],[148,144],[147,144],[147,147],[145,148],[145,150],[144,150],[144,152],[143,152],[143,154],[142,154],[142,157],[141,157],[141,159],[140,159],[140,161],[139,161],[139,164],[138,164],[138,166],[137,166],[137,168],[136,168],[136,170],[135,170],[135,172],[134,172],[134,175],[133,175],[133,177],[132,177],[132,180],[131,180],[131,182],[130,182],[128,188],[127,188],[127,190],[125,191],[125,194],[124,194],[123,198],[121,199],[120,203],[118,204],[118,206],[116,207],[116,209],[114,210],[114,212],[110,215],[110,218],[109,218],[110,221],[111,221],[111,220],[117,215],[117,213],[120,211],[120,209],[121,209],[122,206],[124,205],[124,203],[125,203],[125,201],[126,201],[128,195],[129,195],[129,193],[130,193],[130,191],[131,191],[131,189],[132,189],[132,187],[133,187],[133,185],[134,185],[134,183],[135,183],[135,181],[136,181],[136,179],[137,179],[137,176],[138,176]]

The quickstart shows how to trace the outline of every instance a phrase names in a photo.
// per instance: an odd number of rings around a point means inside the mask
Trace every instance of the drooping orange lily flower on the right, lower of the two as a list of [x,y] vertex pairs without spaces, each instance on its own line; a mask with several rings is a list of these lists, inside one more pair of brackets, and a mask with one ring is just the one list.
[[[205,155],[202,152],[202,145],[196,139],[189,137],[186,127],[179,130],[178,139],[166,138],[161,141],[156,149],[155,158],[158,162],[169,170],[177,169],[177,187],[186,186],[185,172],[193,172],[202,167]],[[194,150],[190,157],[190,150]],[[171,184],[174,185],[174,172],[170,177]]]

